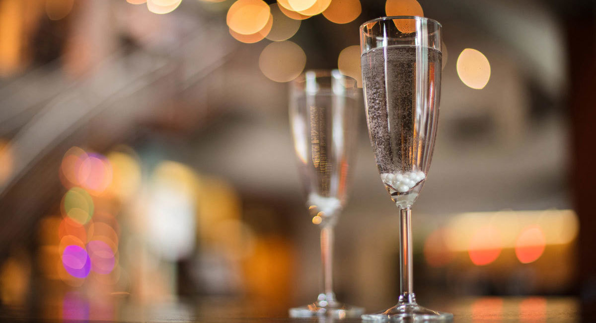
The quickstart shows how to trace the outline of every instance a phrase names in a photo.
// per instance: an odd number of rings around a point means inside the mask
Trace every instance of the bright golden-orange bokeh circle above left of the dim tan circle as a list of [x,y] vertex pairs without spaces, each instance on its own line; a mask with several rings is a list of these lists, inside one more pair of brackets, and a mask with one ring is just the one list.
[[238,0],[229,7],[226,23],[242,35],[258,33],[271,17],[269,5],[262,0]]

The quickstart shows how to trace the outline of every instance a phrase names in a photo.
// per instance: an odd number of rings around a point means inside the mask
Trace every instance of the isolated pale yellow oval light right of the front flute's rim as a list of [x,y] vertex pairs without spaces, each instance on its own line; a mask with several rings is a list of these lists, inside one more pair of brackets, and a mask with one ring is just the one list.
[[457,58],[457,74],[465,85],[482,89],[491,78],[491,64],[482,52],[466,48]]

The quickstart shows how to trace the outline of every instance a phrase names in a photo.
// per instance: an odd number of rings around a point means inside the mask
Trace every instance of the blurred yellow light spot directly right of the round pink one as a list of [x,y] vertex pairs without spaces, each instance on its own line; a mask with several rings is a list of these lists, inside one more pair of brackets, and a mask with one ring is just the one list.
[[107,160],[111,165],[112,180],[108,191],[112,195],[126,200],[134,194],[141,183],[141,165],[134,154],[113,151]]

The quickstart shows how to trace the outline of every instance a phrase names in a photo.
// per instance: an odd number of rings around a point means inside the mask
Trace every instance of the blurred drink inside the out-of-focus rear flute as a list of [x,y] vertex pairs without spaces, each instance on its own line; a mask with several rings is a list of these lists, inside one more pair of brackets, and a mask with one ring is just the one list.
[[332,216],[346,201],[356,138],[355,97],[302,93],[292,100],[290,123],[312,213]]

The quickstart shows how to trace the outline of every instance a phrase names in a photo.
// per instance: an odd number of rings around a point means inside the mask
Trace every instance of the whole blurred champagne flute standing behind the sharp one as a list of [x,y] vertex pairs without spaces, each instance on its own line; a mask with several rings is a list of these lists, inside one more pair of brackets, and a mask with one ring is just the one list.
[[339,70],[309,70],[290,85],[290,125],[312,223],[321,228],[321,292],[292,317],[359,316],[333,293],[333,229],[347,200],[356,146],[359,95],[356,80]]

